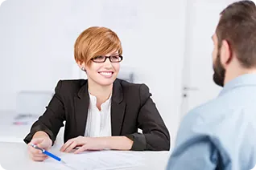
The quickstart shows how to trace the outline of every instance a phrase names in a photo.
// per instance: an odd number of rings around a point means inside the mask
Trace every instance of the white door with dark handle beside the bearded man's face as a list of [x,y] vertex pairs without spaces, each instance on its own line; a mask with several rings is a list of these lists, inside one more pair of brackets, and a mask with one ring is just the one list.
[[213,83],[212,51],[219,14],[227,2],[188,0],[186,50],[184,54],[181,118],[192,108],[216,97],[221,91]]

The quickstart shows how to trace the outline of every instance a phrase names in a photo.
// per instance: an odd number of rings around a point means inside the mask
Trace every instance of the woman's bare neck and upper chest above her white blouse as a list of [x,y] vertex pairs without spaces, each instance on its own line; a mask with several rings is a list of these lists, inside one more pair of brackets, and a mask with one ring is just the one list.
[[89,93],[97,98],[97,106],[101,106],[112,93],[113,83],[109,86],[101,86],[92,80],[88,80]]

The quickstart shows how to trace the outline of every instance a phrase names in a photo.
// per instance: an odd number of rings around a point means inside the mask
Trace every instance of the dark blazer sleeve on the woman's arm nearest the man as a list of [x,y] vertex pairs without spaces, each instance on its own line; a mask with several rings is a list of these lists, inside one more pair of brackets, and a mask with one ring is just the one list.
[[170,149],[170,135],[155,103],[151,99],[149,88],[142,84],[139,88],[141,107],[138,112],[138,128],[143,134],[128,135],[134,141],[131,150],[134,151],[168,151]]

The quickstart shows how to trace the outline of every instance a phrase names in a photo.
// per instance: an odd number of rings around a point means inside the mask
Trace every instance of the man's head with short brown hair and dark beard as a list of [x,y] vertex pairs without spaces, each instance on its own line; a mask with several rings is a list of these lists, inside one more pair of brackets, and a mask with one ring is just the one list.
[[256,3],[240,1],[226,7],[213,42],[213,80],[217,85],[223,87],[237,75],[255,70]]

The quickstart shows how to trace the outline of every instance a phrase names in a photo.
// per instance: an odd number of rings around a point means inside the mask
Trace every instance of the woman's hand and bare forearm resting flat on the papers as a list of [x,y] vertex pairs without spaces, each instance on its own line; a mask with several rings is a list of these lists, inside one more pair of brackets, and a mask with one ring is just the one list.
[[78,136],[68,140],[61,148],[61,152],[72,152],[72,149],[80,147],[74,153],[81,153],[86,150],[103,150],[106,148],[106,140],[103,137]]

